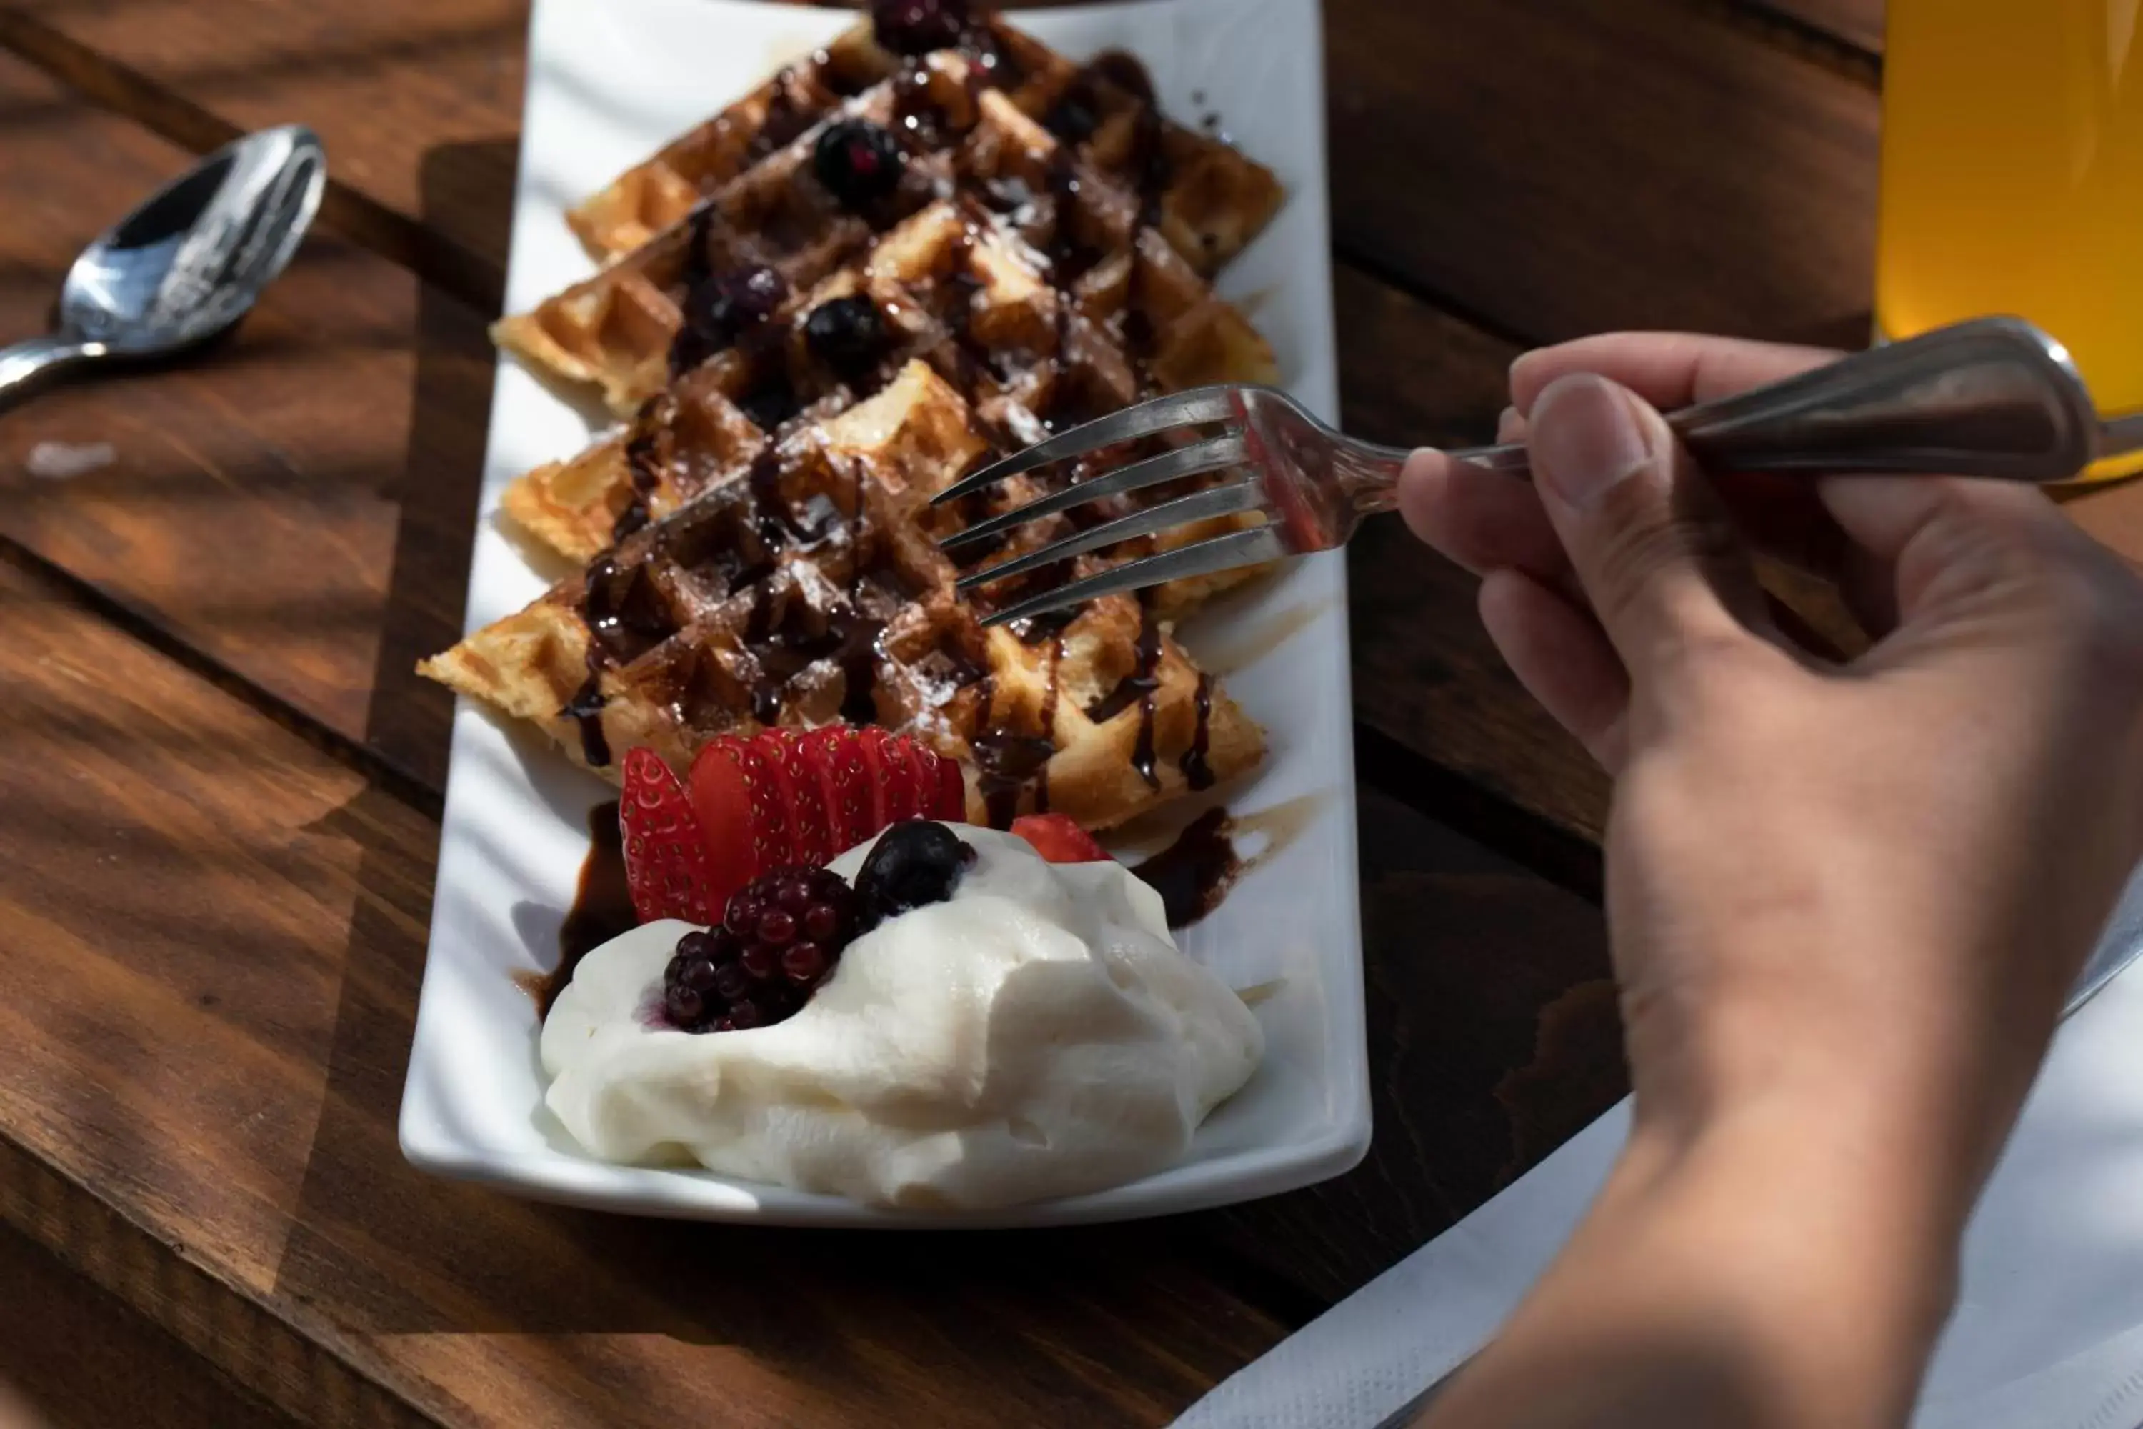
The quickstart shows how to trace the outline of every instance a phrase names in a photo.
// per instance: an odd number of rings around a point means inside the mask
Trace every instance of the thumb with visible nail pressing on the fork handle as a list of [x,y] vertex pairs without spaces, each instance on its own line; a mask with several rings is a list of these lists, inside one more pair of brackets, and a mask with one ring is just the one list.
[[1648,403],[1605,377],[1558,377],[1528,413],[1528,446],[1547,518],[1631,679],[1770,630],[1725,503]]

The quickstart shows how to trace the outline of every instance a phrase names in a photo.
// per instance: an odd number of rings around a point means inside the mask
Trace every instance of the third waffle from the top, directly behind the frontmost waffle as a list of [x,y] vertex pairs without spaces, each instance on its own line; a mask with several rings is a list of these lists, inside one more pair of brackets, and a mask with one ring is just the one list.
[[[984,96],[992,105],[1003,101]],[[1020,152],[1022,167],[1050,163],[1054,141],[1018,111],[986,118],[981,129],[1037,144],[1039,152]],[[594,559],[619,533],[748,465],[771,439],[761,422],[780,428],[834,416],[911,356],[960,390],[996,450],[1153,392],[1275,379],[1264,341],[1155,229],[1125,231],[1125,251],[1054,287],[1029,242],[1035,219],[1022,231],[1014,216],[964,193],[930,204],[853,268],[791,298],[761,341],[729,347],[645,401],[624,433],[514,482],[506,512],[561,555]],[[885,317],[889,343],[876,371],[842,379],[814,360],[804,330],[810,313],[853,294]]]

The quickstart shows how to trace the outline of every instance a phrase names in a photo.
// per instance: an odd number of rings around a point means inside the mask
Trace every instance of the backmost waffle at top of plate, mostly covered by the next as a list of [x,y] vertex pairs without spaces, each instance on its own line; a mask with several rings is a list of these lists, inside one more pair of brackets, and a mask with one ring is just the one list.
[[[1033,120],[1091,165],[1151,189],[1151,221],[1204,276],[1222,270],[1279,210],[1279,182],[1234,148],[1162,118],[1136,60],[1078,66],[1001,21],[981,19],[960,51]],[[844,101],[900,73],[868,24],[774,75],[654,159],[566,214],[589,255],[624,257],[681,223],[726,182],[795,141]]]

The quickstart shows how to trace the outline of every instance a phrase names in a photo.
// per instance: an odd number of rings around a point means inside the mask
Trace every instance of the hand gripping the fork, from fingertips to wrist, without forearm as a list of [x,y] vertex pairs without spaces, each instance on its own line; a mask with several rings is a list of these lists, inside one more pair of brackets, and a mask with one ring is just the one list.
[[[1616,773],[1639,1108],[1845,1071],[1984,1168],[2143,855],[2143,583],[2038,491],[1714,484],[1654,411],[1830,356],[1665,334],[1530,354],[1537,484],[1423,454],[1402,510],[1485,576],[1496,645]],[[1839,578],[1873,649],[1794,649],[1751,538]]]

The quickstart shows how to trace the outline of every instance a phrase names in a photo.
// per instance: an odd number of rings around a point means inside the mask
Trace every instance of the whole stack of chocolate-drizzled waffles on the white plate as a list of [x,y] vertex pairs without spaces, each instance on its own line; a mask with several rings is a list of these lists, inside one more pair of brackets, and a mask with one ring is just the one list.
[[1151,448],[930,497],[1149,396],[1273,381],[1209,279],[1282,195],[1166,122],[1134,60],[1078,66],[994,17],[921,13],[849,32],[574,210],[606,266],[497,339],[626,420],[504,499],[583,570],[420,668],[600,773],[632,746],[684,769],[720,735],[868,722],[958,758],[977,823],[1106,829],[1262,758],[1170,634],[1243,572],[979,621],[1226,523],[956,591],[941,538]]

